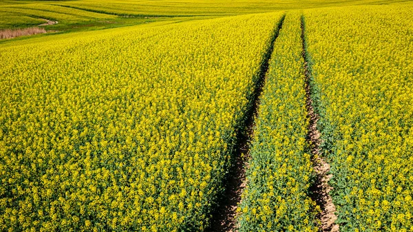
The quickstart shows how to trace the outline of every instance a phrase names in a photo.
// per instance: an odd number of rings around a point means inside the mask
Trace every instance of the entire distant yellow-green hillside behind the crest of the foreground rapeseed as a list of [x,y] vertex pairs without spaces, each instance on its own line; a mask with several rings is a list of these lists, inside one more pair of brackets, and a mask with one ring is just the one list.
[[[380,0],[380,3],[397,1],[404,0]],[[193,17],[221,17],[360,4],[377,4],[377,0],[3,0],[0,1],[0,29],[26,28],[45,23],[41,19],[49,19],[59,23],[45,28],[62,32],[169,19],[191,20]]]

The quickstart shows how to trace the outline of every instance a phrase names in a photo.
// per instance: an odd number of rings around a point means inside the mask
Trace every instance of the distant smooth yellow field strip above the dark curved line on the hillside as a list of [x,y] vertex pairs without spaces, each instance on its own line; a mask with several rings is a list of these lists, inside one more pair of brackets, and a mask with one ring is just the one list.
[[[394,3],[403,0],[381,0],[380,3]],[[43,3],[50,5],[50,3]],[[359,4],[377,4],[377,0],[76,0],[55,1],[52,4],[70,6],[89,12],[131,16],[184,16],[184,15],[228,15],[276,12],[319,8],[326,6],[348,6]]]

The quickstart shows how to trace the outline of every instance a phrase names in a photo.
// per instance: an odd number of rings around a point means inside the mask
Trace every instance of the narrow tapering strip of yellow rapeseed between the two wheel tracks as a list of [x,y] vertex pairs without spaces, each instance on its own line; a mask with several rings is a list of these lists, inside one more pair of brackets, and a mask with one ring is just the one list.
[[275,41],[251,144],[240,231],[317,231],[308,196],[313,168],[301,56],[301,14],[286,15]]

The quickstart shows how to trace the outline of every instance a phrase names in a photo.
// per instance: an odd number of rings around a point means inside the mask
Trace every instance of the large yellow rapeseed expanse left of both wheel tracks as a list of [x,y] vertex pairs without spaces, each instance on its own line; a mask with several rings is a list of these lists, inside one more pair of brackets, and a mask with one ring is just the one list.
[[0,231],[204,229],[281,16],[0,48]]

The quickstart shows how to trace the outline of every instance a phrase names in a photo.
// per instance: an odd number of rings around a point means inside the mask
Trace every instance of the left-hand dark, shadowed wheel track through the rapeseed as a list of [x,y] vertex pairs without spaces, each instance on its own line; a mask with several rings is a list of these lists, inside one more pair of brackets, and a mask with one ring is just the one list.
[[242,131],[237,134],[237,150],[229,176],[226,179],[226,189],[224,195],[220,199],[218,209],[216,209],[212,222],[211,231],[237,231],[237,215],[238,204],[241,200],[242,191],[246,186],[246,165],[248,165],[248,156],[250,153],[250,143],[254,134],[255,121],[257,110],[260,105],[260,95],[265,84],[266,73],[268,71],[271,54],[273,54],[274,43],[278,37],[279,31],[284,23],[285,14],[279,20],[277,27],[274,28],[273,36],[268,44],[266,52],[262,56],[262,63],[258,73],[258,80],[255,84],[255,90],[251,97],[251,104],[245,113],[245,125]]

